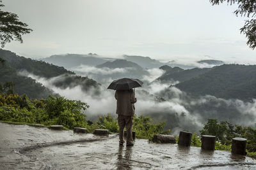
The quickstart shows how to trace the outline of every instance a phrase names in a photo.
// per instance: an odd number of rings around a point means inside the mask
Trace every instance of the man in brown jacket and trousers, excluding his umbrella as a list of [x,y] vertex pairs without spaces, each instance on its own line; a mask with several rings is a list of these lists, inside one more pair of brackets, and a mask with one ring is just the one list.
[[133,146],[132,141],[132,124],[134,116],[134,103],[137,99],[134,90],[116,90],[116,114],[118,114],[119,125],[119,145],[124,144],[124,127],[126,127],[127,141],[126,146]]

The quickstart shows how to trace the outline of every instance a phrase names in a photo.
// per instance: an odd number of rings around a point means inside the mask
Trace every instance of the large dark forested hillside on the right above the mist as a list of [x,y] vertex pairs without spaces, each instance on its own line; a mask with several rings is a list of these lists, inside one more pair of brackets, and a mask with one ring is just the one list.
[[250,101],[256,98],[256,66],[224,64],[176,85],[193,95],[212,95]]

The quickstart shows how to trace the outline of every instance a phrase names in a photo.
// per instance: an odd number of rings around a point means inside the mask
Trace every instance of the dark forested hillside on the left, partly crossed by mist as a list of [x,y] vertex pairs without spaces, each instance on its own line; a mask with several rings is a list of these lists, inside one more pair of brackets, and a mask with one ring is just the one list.
[[46,80],[54,78],[51,81],[52,85],[61,89],[80,85],[83,90],[88,90],[90,87],[98,86],[96,81],[88,77],[76,76],[75,73],[68,71],[64,67],[20,57],[7,50],[0,50],[0,57],[4,60],[1,62],[0,67],[0,82],[12,81],[15,83],[15,92],[18,94],[27,94],[33,99],[45,98],[53,94],[53,92],[42,84],[36,83],[32,78],[20,75],[20,71],[26,71],[29,74],[45,78]]

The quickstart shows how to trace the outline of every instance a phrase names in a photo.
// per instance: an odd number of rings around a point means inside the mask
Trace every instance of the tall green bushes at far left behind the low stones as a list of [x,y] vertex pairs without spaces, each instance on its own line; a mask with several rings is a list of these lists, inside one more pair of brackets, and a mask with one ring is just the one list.
[[52,96],[37,101],[29,99],[26,95],[10,94],[9,96],[0,95],[0,106],[0,120],[4,121],[59,124],[68,129],[87,127],[86,117],[81,110],[86,110],[88,105],[81,101]]

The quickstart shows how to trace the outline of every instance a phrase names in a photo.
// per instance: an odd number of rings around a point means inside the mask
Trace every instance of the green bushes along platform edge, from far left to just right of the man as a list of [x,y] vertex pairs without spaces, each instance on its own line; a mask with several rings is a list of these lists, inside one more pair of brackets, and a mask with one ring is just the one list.
[[[119,131],[116,117],[105,115],[93,124],[88,124],[86,116],[81,110],[89,106],[81,101],[72,101],[64,97],[52,97],[33,100],[28,96],[10,94],[0,95],[0,120],[9,122],[22,122],[28,124],[64,125],[68,129],[73,127],[88,128],[89,132],[95,129],[108,129],[109,132]],[[154,134],[168,134],[170,130],[163,131],[165,122],[154,123],[149,117],[134,117],[133,131],[138,138],[151,139]]]

